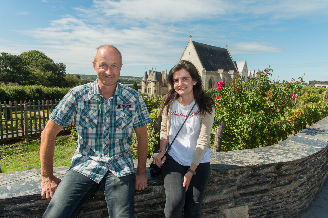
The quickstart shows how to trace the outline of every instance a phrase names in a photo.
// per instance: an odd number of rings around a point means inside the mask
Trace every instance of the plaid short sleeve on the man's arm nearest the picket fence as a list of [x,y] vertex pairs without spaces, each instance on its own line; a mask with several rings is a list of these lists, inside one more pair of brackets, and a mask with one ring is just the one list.
[[59,102],[50,114],[49,118],[59,126],[67,126],[72,123],[75,117],[75,95],[71,89]]

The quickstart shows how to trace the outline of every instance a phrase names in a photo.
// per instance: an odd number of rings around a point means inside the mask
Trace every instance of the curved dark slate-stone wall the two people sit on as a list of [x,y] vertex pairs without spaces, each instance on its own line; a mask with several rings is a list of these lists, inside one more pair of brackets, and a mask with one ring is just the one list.
[[[297,217],[326,181],[327,141],[328,117],[276,145],[215,153],[202,217]],[[62,177],[67,169],[54,172]],[[135,217],[164,217],[163,181],[147,176],[147,189],[135,192]],[[40,184],[40,169],[0,174],[0,217],[41,217],[48,201]],[[99,189],[75,217],[106,216]]]

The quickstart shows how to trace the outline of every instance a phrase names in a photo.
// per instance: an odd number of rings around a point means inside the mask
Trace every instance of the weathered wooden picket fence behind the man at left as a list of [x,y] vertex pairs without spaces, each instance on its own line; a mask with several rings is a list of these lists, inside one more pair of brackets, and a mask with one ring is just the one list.
[[[58,105],[60,100],[55,101],[6,101],[0,102],[0,141],[9,141],[12,139],[24,138],[29,141],[30,137],[39,137],[49,120],[52,110]],[[71,131],[74,127],[72,122],[69,126],[63,127],[61,132]]]

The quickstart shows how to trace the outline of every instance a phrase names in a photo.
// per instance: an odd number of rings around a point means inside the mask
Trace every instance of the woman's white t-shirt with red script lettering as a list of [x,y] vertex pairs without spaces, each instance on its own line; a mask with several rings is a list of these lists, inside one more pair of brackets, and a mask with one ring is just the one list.
[[[194,106],[195,100],[188,106],[181,105],[177,100],[172,104],[171,124],[169,130],[169,143],[171,143],[179,131],[181,125],[185,121],[190,109]],[[193,111],[190,113],[186,123],[183,125],[173,144],[169,154],[179,164],[183,166],[190,166],[194,157],[194,151],[197,144],[198,134],[200,130],[200,120],[197,105],[195,105]],[[206,150],[204,158],[201,163],[210,162],[209,149]]]

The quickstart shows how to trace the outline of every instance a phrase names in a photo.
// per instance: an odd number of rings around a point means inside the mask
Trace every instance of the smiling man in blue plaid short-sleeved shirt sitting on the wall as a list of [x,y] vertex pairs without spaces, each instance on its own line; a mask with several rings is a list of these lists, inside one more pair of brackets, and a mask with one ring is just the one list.
[[[43,217],[73,217],[100,184],[110,217],[133,217],[134,189],[147,187],[146,125],[151,119],[145,103],[137,91],[117,82],[122,56],[113,45],[98,47],[92,64],[96,81],[72,88],[42,131],[41,195],[51,200]],[[53,175],[55,136],[73,119],[78,146],[61,181]],[[136,174],[130,152],[133,128],[138,140]]]

